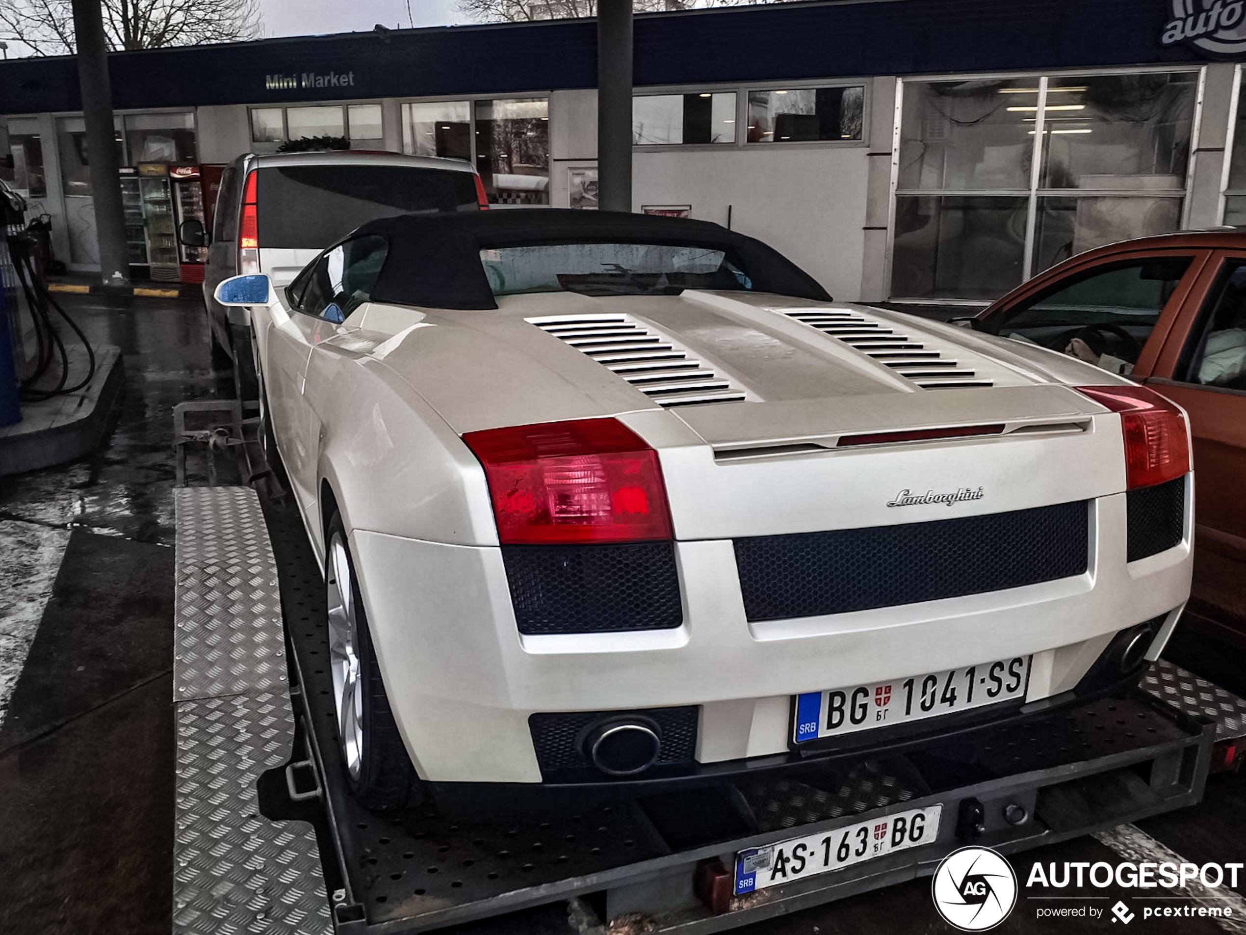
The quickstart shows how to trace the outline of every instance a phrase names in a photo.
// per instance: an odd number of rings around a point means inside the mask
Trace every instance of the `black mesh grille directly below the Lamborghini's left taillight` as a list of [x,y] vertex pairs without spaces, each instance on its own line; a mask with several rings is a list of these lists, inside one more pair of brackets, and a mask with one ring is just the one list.
[[520,632],[668,630],[684,620],[670,542],[502,546]]

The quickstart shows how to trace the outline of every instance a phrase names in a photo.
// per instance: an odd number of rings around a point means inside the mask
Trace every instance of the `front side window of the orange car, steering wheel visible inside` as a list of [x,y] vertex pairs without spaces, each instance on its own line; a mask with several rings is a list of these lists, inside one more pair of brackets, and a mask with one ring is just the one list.
[[1129,373],[1194,257],[1131,259],[1064,279],[988,327]]

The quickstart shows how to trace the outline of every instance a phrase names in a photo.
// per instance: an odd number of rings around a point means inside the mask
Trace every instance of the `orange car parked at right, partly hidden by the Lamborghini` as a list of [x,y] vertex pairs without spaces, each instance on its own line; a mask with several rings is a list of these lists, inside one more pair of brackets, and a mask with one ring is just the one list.
[[1246,231],[1088,251],[972,324],[1129,374],[1185,408],[1196,532],[1184,620],[1246,647]]

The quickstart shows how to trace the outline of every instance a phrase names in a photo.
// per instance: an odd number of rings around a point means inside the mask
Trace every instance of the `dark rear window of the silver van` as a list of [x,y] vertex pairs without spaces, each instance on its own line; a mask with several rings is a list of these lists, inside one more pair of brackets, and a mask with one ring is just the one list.
[[394,214],[477,211],[471,172],[414,166],[280,166],[259,170],[259,246],[324,249]]

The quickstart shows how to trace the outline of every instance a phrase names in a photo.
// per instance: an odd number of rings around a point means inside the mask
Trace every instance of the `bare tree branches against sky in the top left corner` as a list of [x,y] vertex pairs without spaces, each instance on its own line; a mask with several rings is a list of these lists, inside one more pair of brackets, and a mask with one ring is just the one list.
[[[255,39],[259,0],[100,0],[111,51]],[[0,40],[72,55],[72,0],[0,0]]]

